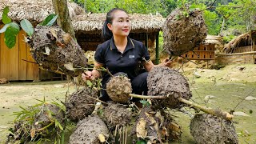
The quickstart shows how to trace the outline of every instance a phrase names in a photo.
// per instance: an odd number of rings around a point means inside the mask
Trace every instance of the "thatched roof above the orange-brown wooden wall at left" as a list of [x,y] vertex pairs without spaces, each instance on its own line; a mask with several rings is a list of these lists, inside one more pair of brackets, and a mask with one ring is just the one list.
[[[30,22],[40,23],[49,14],[54,14],[54,7],[51,0],[1,0],[0,2],[0,20],[2,20],[2,10],[5,6],[9,6],[9,16],[14,21],[27,19]],[[70,17],[82,14],[82,7],[74,2],[68,2]]]

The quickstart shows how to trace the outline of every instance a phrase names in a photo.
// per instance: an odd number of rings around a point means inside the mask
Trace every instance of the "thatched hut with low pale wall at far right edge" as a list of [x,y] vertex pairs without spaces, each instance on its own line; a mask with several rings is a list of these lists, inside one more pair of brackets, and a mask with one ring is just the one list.
[[256,63],[256,30],[234,38],[224,46],[223,54],[217,54],[220,64]]

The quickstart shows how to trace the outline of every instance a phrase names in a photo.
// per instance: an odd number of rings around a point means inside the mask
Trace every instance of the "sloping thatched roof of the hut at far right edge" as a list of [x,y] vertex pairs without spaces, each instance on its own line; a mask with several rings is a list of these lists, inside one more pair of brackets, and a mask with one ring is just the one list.
[[251,30],[250,32],[241,34],[237,38],[232,39],[228,44],[224,46],[224,52],[230,54],[240,46],[254,46],[255,44],[256,30]]

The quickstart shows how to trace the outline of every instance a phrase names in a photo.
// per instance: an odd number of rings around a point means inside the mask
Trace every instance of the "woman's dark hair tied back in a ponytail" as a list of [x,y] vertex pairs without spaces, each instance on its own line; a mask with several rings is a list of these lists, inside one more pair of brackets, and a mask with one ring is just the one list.
[[121,10],[121,11],[126,12],[126,10],[122,10],[122,9],[119,9],[119,8],[114,8],[106,14],[106,21],[104,22],[103,27],[102,27],[102,38],[104,38],[105,40],[109,40],[110,38],[113,37],[112,31],[107,27],[107,24],[108,23],[112,24],[112,20],[114,18],[113,17],[114,12],[117,11],[117,10]]

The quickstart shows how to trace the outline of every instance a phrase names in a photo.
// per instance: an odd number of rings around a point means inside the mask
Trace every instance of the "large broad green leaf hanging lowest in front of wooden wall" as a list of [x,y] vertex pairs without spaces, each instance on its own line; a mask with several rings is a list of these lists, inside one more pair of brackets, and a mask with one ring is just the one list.
[[16,36],[19,32],[19,26],[16,22],[11,22],[10,26],[7,27],[5,32],[4,41],[6,46],[11,49],[16,44]]

